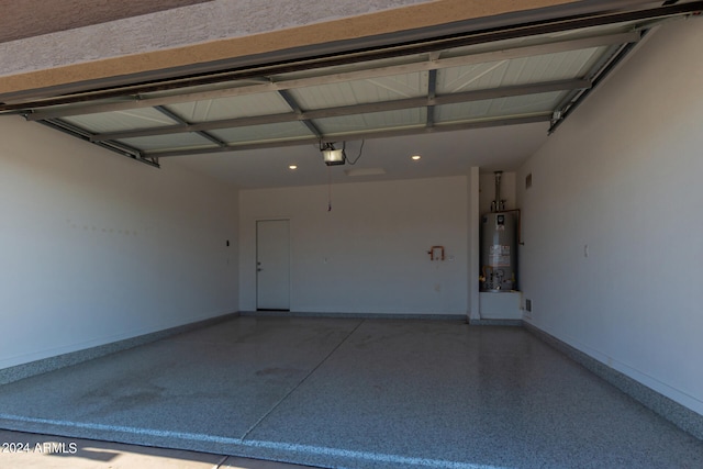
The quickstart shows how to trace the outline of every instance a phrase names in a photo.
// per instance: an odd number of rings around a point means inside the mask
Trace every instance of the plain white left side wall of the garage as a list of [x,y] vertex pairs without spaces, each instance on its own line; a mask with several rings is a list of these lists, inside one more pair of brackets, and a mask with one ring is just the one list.
[[0,368],[237,310],[235,190],[20,118],[0,141]]

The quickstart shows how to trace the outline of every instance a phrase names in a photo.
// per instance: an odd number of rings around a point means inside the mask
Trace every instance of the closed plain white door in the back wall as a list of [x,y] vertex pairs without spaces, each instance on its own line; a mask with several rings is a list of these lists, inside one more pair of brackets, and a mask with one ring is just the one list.
[[256,309],[290,310],[288,220],[256,222]]

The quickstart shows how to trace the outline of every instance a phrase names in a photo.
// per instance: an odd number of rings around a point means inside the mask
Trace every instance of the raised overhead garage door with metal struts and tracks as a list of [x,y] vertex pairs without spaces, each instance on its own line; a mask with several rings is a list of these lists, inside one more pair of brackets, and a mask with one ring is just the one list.
[[550,132],[660,21],[703,2],[545,20],[87,90],[20,113],[149,165],[161,158],[532,122]]

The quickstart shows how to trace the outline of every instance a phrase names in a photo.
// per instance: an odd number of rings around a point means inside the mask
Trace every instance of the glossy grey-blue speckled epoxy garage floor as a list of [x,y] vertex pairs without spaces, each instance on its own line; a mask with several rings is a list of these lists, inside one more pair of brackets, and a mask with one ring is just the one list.
[[0,427],[332,468],[699,468],[518,327],[236,317],[0,388]]

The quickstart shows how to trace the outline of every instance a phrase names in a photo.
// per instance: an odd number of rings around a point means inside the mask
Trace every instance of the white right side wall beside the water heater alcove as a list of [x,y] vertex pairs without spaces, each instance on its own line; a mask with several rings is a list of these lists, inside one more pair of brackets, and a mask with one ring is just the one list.
[[651,35],[517,180],[527,321],[703,414],[701,26]]

